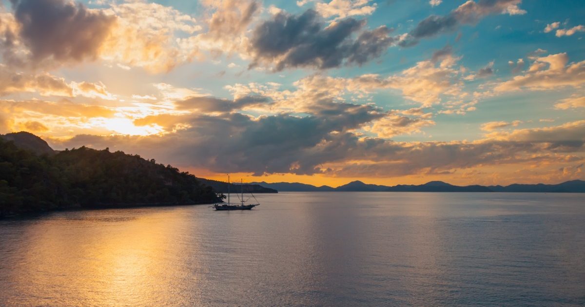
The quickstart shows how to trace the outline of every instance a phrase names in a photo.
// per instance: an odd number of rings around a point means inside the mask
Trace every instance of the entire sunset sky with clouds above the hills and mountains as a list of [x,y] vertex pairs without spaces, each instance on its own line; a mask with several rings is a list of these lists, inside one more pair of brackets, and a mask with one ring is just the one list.
[[582,16],[580,0],[0,0],[0,133],[218,180],[583,180]]

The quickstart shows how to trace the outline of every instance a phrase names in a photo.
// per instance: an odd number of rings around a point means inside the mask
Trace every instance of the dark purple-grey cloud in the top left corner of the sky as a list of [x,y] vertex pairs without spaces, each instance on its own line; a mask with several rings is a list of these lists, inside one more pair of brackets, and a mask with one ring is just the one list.
[[35,63],[81,61],[97,57],[99,47],[115,22],[112,16],[91,11],[80,2],[65,0],[11,0],[20,24],[20,39]]

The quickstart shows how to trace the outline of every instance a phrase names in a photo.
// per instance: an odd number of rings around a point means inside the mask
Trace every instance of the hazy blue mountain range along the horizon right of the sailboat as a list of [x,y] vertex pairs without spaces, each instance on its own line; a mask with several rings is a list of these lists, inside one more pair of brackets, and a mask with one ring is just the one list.
[[547,193],[585,193],[585,181],[571,180],[560,184],[511,184],[507,186],[490,185],[452,185],[443,181],[431,181],[420,185],[386,185],[364,184],[362,181],[352,181],[337,188],[322,185],[315,187],[298,182],[250,182],[250,184],[276,189],[280,192],[547,192]]

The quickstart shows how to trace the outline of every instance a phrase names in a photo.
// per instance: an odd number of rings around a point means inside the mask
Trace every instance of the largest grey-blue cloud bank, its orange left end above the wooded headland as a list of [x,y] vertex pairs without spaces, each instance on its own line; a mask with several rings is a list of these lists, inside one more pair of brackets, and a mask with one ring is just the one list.
[[304,117],[158,115],[136,120],[135,125],[164,126],[171,132],[165,137],[77,136],[63,146],[147,152],[159,161],[218,172],[314,174],[320,172],[319,164],[345,157],[348,149],[340,136],[384,115],[373,106],[346,103],[318,108],[315,115]]

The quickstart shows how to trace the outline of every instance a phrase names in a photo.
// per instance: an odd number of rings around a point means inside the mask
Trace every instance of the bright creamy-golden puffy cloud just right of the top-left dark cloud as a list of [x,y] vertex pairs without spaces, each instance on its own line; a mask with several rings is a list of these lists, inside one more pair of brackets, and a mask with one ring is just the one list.
[[116,23],[102,43],[99,56],[123,69],[130,65],[164,73],[201,56],[195,42],[201,26],[191,15],[139,1],[112,3],[103,12],[115,16]]

